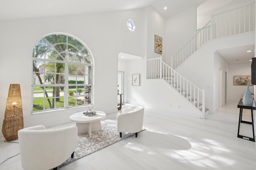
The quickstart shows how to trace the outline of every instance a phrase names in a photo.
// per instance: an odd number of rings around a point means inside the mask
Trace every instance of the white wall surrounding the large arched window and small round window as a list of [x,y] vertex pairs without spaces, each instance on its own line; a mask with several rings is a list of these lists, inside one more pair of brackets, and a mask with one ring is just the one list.
[[[126,26],[129,18],[136,23],[134,32]],[[146,51],[144,9],[2,21],[0,25],[0,124],[4,119],[8,88],[13,83],[21,86],[25,127],[65,123],[70,121],[71,114],[87,108],[31,114],[32,50],[44,35],[68,33],[88,45],[95,61],[94,109],[106,113],[117,111],[118,53],[144,56]]]

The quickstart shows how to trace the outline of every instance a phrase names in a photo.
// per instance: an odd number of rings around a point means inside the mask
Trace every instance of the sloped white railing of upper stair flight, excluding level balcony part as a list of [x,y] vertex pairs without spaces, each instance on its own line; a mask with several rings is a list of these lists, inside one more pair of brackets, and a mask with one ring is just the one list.
[[210,32],[212,31],[210,29],[210,23],[211,21],[208,21],[208,23],[206,23],[204,27],[199,29],[199,31],[172,57],[172,67],[174,69],[180,66],[180,64],[188,59],[190,55],[192,55],[197,49],[204,45],[204,43],[212,38],[210,37],[212,35],[210,34]]

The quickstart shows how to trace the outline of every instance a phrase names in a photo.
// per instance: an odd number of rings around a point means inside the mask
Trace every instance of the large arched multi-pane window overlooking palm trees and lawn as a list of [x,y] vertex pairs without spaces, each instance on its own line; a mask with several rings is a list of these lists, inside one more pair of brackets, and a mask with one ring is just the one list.
[[93,60],[88,51],[63,34],[47,35],[36,43],[32,112],[92,104]]

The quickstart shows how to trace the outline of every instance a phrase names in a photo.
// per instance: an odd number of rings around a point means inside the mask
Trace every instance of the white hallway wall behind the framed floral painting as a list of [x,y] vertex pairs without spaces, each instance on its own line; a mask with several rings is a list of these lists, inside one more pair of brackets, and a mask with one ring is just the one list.
[[[234,76],[250,76],[251,63],[244,64],[230,64],[228,76],[228,100],[232,102],[239,102],[243,98],[246,86],[234,85]],[[254,93],[253,86],[249,86],[250,92]]]

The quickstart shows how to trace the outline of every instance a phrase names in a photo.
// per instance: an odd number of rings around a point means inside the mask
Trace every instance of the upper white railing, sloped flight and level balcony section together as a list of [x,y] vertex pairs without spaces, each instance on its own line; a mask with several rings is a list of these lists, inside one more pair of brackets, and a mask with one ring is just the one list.
[[255,3],[251,2],[232,10],[214,14],[204,27],[199,29],[171,59],[171,66],[176,69],[196,50],[210,39],[246,33],[255,30]]

